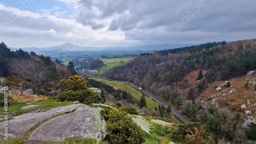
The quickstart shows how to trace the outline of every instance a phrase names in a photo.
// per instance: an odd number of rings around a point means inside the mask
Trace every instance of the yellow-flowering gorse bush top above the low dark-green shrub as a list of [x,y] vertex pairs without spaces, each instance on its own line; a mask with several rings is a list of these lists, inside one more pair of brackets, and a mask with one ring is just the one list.
[[89,89],[87,87],[87,83],[83,81],[82,77],[78,77],[78,76],[69,77],[68,80],[62,79],[60,82],[64,90],[77,91],[77,90]]

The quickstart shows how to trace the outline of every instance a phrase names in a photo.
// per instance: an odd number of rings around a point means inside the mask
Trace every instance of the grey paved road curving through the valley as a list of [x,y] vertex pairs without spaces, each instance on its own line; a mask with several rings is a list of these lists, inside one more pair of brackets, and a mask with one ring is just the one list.
[[[109,80],[109,81],[116,81],[116,82],[121,82],[121,83],[125,83],[127,85],[130,85],[131,87],[139,90],[139,87],[134,85],[134,84],[131,84],[131,83],[127,83],[127,82],[124,82],[124,81],[118,81],[118,80],[112,80],[112,79],[106,79],[106,78],[102,78],[102,77],[95,77],[95,78],[100,78],[100,79],[104,79],[104,80]],[[153,99],[154,101],[156,101],[157,103],[159,103],[160,105],[163,105],[165,108],[168,108],[168,106],[166,106],[163,102],[157,100],[155,97],[153,97],[153,95],[151,95],[150,93],[147,93],[146,91],[144,90],[139,90],[141,93],[145,94],[147,97],[150,97],[151,99]],[[179,112],[177,112],[176,110],[173,110],[172,109],[172,113],[174,115],[176,115],[183,123],[190,123],[188,118],[186,118],[184,115],[180,114]]]

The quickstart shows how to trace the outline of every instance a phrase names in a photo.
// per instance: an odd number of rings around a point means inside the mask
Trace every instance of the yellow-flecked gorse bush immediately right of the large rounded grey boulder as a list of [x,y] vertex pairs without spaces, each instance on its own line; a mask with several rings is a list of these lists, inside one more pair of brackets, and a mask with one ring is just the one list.
[[106,130],[108,135],[106,139],[110,143],[143,143],[144,134],[127,113],[121,110],[106,108],[101,111],[101,115],[106,121]]

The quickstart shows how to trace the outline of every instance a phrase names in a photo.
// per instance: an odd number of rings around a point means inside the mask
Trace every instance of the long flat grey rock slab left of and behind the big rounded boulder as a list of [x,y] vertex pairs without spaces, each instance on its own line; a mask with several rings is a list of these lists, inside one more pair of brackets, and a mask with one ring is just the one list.
[[[28,132],[31,128],[38,126],[40,123],[47,121],[48,119],[55,117],[59,114],[68,113],[74,111],[79,107],[86,107],[83,104],[61,106],[53,108],[47,112],[40,113],[25,113],[8,121],[8,133],[16,136],[22,136]],[[88,106],[87,106],[88,107]],[[4,122],[0,123],[0,131],[4,131]]]

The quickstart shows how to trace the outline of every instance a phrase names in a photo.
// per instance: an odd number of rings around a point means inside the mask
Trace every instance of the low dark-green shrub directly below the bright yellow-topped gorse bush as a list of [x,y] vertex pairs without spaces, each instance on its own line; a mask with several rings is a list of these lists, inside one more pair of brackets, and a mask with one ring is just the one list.
[[103,103],[102,97],[91,89],[78,91],[68,90],[57,95],[56,99],[60,101],[79,101],[83,104]]

